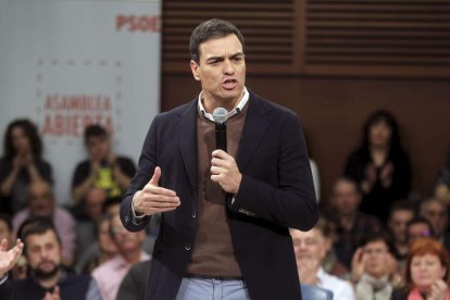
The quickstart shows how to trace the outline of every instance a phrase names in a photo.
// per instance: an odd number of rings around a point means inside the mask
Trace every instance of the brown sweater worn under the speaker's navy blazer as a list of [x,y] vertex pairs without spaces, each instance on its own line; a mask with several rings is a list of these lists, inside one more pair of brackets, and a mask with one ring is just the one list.
[[[236,159],[247,115],[243,110],[227,123],[227,153]],[[215,150],[214,124],[201,114],[197,117],[198,213],[197,234],[187,273],[208,277],[241,277],[226,216],[225,192],[211,180],[211,153]]]

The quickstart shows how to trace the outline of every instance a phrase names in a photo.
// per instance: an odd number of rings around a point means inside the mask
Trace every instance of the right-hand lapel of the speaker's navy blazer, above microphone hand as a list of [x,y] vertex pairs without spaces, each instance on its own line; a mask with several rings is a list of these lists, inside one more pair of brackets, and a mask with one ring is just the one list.
[[270,122],[270,108],[252,92],[250,92],[248,105],[246,123],[243,124],[242,137],[236,159],[240,171],[245,170],[253,153],[258,151]]

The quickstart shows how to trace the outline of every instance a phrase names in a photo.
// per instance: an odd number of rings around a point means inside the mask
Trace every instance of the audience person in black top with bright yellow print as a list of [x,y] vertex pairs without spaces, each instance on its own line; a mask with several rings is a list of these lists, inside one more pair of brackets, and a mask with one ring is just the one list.
[[136,172],[133,161],[112,151],[110,137],[100,125],[86,127],[85,145],[90,158],[75,168],[72,180],[75,203],[80,203],[92,187],[107,190],[109,198],[122,196]]

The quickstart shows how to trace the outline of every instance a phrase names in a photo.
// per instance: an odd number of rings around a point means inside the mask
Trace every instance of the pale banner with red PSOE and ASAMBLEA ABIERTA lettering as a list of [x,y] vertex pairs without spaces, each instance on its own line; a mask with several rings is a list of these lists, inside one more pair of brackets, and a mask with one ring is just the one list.
[[86,124],[137,163],[160,110],[160,1],[0,0],[0,133],[17,117],[38,125],[59,202],[87,158]]

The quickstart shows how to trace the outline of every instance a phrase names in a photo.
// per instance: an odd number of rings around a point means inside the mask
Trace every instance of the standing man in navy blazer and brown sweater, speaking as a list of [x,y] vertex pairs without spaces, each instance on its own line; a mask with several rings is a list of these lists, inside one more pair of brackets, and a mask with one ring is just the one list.
[[153,120],[121,208],[128,230],[162,213],[146,299],[301,299],[288,228],[309,230],[318,210],[300,121],[246,88],[229,22],[201,23],[189,50],[201,92]]

